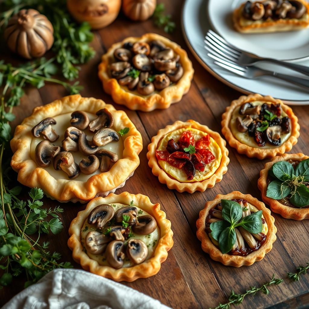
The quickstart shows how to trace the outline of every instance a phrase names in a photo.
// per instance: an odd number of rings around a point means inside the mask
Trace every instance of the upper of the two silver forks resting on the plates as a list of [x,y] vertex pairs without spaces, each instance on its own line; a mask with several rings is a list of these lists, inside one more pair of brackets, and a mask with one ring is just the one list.
[[301,66],[299,64],[289,63],[272,58],[262,58],[255,54],[242,51],[226,42],[226,40],[224,40],[221,36],[212,30],[208,30],[204,42],[206,44],[205,48],[208,51],[215,51],[221,56],[225,57],[226,60],[231,60],[242,66],[253,66],[259,61],[268,61],[285,66],[289,69],[309,76],[309,67],[307,66]]

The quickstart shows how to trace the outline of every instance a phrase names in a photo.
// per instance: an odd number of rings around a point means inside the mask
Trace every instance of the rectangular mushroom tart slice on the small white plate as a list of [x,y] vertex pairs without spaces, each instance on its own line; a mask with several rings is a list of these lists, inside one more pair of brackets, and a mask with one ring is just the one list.
[[309,3],[305,0],[244,2],[233,13],[239,32],[279,32],[309,27]]

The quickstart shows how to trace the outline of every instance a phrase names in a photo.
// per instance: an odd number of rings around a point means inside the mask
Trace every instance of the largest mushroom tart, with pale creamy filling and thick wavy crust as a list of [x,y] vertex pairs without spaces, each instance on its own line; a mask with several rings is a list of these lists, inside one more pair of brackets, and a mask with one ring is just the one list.
[[35,108],[11,148],[20,183],[60,202],[86,203],[124,186],[139,165],[142,136],[125,112],[70,95]]

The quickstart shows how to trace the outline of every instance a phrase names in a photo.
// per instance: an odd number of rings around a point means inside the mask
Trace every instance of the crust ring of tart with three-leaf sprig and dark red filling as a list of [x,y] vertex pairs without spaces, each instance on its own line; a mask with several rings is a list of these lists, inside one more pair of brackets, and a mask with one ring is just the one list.
[[[244,199],[255,206],[258,210],[263,211],[264,219],[268,226],[268,233],[266,235],[265,243],[256,250],[248,254],[247,256],[239,256],[239,255],[230,255],[230,254],[223,254],[219,248],[217,248],[212,241],[210,240],[209,236],[205,232],[205,222],[208,217],[209,211],[215,207],[222,199],[232,200],[232,199]],[[214,200],[208,201],[205,204],[205,208],[200,211],[200,216],[197,219],[196,226],[197,226],[197,238],[202,242],[201,246],[203,251],[208,253],[210,257],[218,262],[221,262],[224,265],[240,267],[243,265],[249,266],[252,265],[256,261],[260,261],[264,258],[265,254],[268,253],[273,248],[273,243],[277,239],[276,232],[277,228],[274,225],[275,218],[273,218],[270,214],[270,210],[266,208],[265,204],[257,200],[256,198],[252,197],[250,194],[243,194],[239,191],[233,191],[226,195],[218,194]]]

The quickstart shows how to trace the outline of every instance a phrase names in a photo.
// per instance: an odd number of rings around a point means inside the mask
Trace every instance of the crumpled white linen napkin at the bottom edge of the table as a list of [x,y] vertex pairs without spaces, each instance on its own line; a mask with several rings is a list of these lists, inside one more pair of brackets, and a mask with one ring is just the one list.
[[2,309],[171,309],[118,282],[80,269],[55,269]]

